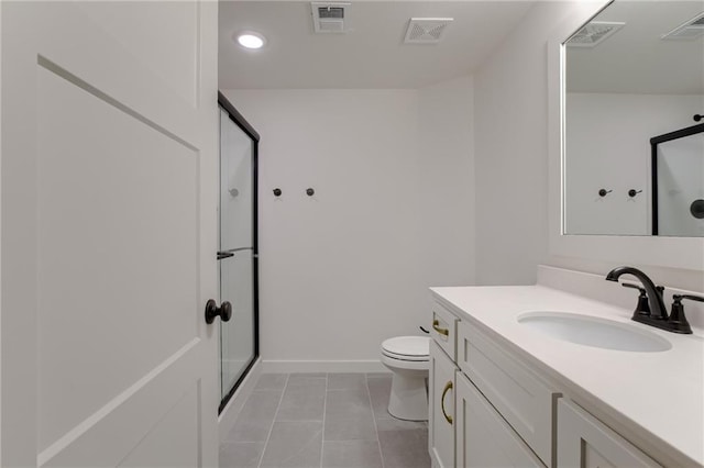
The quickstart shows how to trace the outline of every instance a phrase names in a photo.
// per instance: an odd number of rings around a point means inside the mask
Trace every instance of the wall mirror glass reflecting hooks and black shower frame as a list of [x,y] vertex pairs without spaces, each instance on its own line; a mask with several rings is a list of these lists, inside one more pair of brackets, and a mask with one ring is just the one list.
[[616,0],[563,59],[562,232],[704,237],[704,1]]

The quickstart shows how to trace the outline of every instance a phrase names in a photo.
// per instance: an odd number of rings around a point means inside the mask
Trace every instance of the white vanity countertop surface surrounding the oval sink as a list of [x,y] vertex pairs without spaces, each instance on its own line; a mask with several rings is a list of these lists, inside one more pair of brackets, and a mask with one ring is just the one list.
[[[431,291],[460,319],[479,324],[660,463],[704,466],[704,338],[697,331],[694,335],[661,331],[632,322],[631,310],[544,286]],[[530,311],[580,313],[626,323],[666,338],[672,348],[636,353],[559,341],[517,322],[518,315]]]

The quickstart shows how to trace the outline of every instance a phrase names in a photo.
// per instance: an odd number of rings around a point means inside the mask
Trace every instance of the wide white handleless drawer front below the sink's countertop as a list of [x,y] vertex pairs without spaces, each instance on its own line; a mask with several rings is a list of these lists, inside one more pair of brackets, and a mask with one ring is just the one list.
[[458,325],[458,365],[520,437],[552,466],[553,392],[466,322]]

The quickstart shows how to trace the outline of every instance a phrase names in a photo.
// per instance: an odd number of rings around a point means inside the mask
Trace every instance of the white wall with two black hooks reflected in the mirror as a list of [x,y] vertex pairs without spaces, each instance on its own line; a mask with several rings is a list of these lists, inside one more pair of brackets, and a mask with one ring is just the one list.
[[[565,231],[649,235],[650,138],[693,125],[701,102],[700,96],[568,93]],[[601,188],[613,192],[602,198]],[[630,189],[642,193],[630,198]]]

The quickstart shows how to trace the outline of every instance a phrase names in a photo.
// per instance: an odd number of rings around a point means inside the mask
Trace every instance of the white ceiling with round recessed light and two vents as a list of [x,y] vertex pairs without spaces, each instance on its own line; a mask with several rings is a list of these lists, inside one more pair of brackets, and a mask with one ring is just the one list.
[[[349,1],[345,34],[316,34],[310,2],[219,4],[221,89],[420,88],[472,73],[532,1]],[[404,44],[410,18],[453,18],[439,44]],[[267,44],[246,51],[241,31]]]

